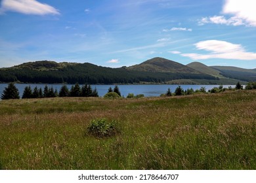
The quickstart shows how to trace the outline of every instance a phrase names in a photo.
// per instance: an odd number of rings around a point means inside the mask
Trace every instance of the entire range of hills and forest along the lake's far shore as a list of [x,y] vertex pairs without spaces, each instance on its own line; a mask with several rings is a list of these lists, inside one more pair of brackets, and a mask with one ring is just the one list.
[[[245,69],[247,71],[247,69]],[[0,69],[0,82],[74,84],[236,84],[256,79],[256,71],[182,65],[165,58],[152,58],[131,67],[110,68],[92,63],[33,61]],[[255,71],[255,73],[253,73]]]

